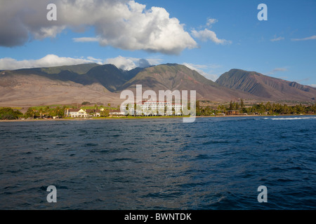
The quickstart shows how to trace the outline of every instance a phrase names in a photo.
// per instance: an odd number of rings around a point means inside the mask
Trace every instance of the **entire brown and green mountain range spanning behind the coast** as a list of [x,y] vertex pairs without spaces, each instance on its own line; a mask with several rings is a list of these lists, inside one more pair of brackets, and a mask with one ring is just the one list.
[[216,82],[181,64],[160,64],[130,71],[112,64],[78,64],[35,69],[0,71],[0,106],[52,104],[119,105],[122,90],[196,90],[197,99],[229,102],[254,101],[315,102],[316,88],[256,71],[231,69]]

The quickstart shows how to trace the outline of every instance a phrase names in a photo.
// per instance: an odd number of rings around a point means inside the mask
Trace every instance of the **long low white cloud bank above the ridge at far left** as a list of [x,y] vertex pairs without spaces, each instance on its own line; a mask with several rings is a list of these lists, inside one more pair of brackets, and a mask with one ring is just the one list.
[[93,57],[84,58],[73,58],[73,57],[58,57],[57,55],[46,55],[40,59],[30,60],[16,60],[11,57],[4,57],[0,59],[1,70],[14,70],[14,69],[27,69],[27,68],[39,68],[49,66],[62,66],[62,65],[73,65],[73,64],[84,64],[84,63],[99,63],[100,59]]

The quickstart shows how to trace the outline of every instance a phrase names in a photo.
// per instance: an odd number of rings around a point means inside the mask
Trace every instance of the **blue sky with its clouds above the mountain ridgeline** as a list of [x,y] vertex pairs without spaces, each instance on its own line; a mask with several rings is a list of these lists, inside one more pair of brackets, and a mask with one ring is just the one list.
[[[22,0],[15,0],[15,3],[19,1]],[[123,69],[131,69],[138,66],[139,59],[147,59],[150,64],[185,64],[212,80],[230,69],[244,69],[316,86],[315,0],[136,0],[135,4],[120,1],[129,5],[128,10],[131,11],[128,11],[131,27],[125,29],[117,29],[118,24],[113,23],[120,16],[119,13],[112,15],[117,8],[121,9],[116,5],[118,1],[113,1],[113,8],[110,8],[110,0],[91,2],[98,8],[106,2],[104,12],[97,12],[95,8],[78,12],[79,3],[70,4],[68,7],[72,8],[67,9],[68,15],[60,0],[43,1],[41,4],[27,0],[20,6],[0,3],[1,34],[8,34],[7,38],[0,37],[0,69],[88,61],[113,63]],[[48,13],[45,8],[47,3],[56,4],[57,21],[44,18],[43,15]],[[268,6],[267,21],[257,18],[259,3]],[[134,10],[139,7],[143,7],[143,11],[136,13]],[[155,14],[159,20],[152,19],[152,7],[159,7]],[[4,10],[12,17],[4,18]],[[91,15],[87,14],[89,10]],[[76,13],[84,16],[75,17]],[[104,15],[99,16],[98,13]],[[169,18],[166,13],[169,13]],[[9,26],[11,21],[20,21],[20,31],[13,31]],[[157,26],[157,29],[146,27],[147,21],[155,21],[152,27]],[[175,27],[174,32],[170,29],[171,25]],[[51,29],[53,26],[59,28]],[[142,35],[138,35],[138,26],[144,29]],[[12,27],[17,25],[13,22]],[[43,27],[48,31],[43,32]],[[151,31],[166,34],[166,37],[150,41],[147,38],[142,42],[144,35],[151,35]],[[25,39],[21,41],[23,35]],[[11,41],[14,38],[17,41]]]

